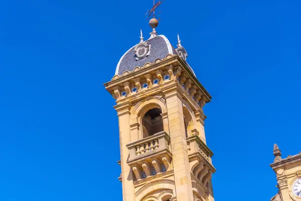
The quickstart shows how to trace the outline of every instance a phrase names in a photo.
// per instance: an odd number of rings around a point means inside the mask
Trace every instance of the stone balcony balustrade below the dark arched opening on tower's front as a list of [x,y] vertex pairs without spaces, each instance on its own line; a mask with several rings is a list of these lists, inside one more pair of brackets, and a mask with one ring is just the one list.
[[160,132],[153,136],[131,142],[126,145],[129,149],[128,163],[150,155],[163,152],[170,153],[170,136],[166,132]]

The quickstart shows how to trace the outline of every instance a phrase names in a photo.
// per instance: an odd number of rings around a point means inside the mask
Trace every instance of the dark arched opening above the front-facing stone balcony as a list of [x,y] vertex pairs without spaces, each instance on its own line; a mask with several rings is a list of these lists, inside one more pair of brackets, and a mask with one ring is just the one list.
[[147,111],[142,118],[143,138],[152,136],[163,131],[163,120],[161,109],[153,108]]

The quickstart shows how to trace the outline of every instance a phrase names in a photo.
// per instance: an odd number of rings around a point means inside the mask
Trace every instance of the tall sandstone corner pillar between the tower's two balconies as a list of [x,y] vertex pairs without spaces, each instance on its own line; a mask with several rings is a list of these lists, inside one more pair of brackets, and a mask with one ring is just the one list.
[[182,97],[177,88],[165,91],[178,201],[193,200]]

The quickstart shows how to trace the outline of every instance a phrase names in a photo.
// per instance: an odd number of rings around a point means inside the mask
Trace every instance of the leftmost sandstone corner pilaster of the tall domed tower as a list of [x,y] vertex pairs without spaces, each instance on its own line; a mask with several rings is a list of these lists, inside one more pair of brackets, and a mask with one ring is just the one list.
[[115,106],[118,113],[119,122],[119,141],[120,141],[120,165],[121,165],[121,178],[122,178],[122,197],[123,201],[135,200],[134,185],[133,185],[133,172],[131,167],[127,164],[126,160],[129,155],[129,150],[126,145],[131,142],[130,140],[130,105],[122,104],[122,106]]

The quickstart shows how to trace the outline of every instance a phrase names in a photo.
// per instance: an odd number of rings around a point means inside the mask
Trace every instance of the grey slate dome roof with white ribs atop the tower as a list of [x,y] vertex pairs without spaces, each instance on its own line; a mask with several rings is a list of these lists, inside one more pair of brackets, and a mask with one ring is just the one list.
[[[140,46],[145,46],[145,48],[140,48]],[[139,55],[140,53],[142,56]],[[125,71],[132,71],[136,66],[141,67],[147,62],[153,63],[157,59],[165,58],[168,54],[175,55],[178,53],[164,35],[150,37],[124,53],[117,64],[115,75],[122,75]],[[186,64],[193,72],[188,63]]]

